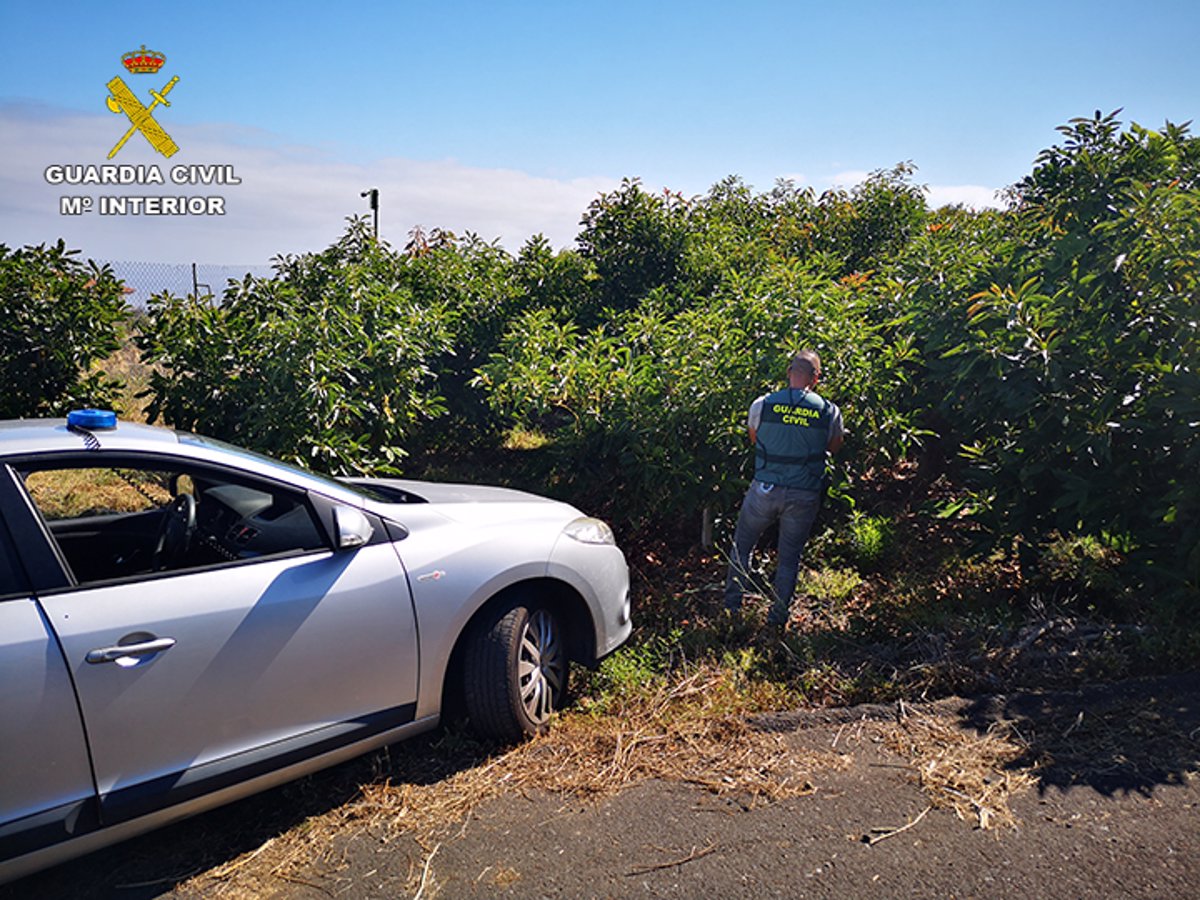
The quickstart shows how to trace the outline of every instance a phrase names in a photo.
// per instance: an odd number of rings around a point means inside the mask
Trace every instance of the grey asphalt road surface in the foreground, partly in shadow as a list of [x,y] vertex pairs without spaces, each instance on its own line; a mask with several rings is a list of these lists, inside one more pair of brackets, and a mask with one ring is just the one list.
[[847,761],[810,796],[755,805],[660,781],[600,802],[510,796],[413,857],[349,845],[288,896],[410,896],[414,869],[443,898],[1200,896],[1200,678],[938,709],[976,734],[1003,719],[1042,756],[1015,827],[923,815],[929,794],[886,740],[894,710],[824,710],[768,722]]

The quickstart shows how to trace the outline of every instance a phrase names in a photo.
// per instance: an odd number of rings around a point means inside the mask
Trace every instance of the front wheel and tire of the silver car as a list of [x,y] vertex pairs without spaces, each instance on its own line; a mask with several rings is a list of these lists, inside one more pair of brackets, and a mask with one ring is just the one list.
[[560,617],[546,606],[517,604],[485,619],[464,660],[472,727],[505,742],[544,732],[566,697],[565,638]]

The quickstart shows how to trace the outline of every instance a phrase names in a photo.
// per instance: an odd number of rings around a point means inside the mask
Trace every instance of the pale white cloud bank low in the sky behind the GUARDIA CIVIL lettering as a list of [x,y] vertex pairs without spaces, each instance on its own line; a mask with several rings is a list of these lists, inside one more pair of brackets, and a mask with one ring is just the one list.
[[[346,218],[367,212],[360,196],[378,187],[379,232],[403,246],[414,226],[473,232],[510,251],[536,233],[569,246],[588,204],[611,179],[556,180],[511,169],[482,169],[452,160],[398,157],[354,164],[313,148],[287,146],[253,130],[170,128],[180,150],[158,156],[139,136],[110,163],[104,155],[120,127],[104,115],[0,106],[0,242],[42,244],[64,238],[96,259],[258,265],[281,253],[322,250]],[[164,185],[50,185],[47,167],[157,166]],[[176,185],[174,166],[232,166],[241,184]],[[217,196],[223,216],[61,215],[62,196]]]

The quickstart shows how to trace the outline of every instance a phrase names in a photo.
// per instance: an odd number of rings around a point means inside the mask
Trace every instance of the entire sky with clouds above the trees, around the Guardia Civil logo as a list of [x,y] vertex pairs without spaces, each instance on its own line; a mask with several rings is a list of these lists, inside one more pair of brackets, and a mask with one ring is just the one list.
[[[931,203],[994,202],[1055,127],[1096,109],[1196,118],[1200,4],[295,2],[38,7],[0,0],[0,242],[67,239],[108,259],[260,264],[319,250],[359,192],[380,230],[569,246],[624,176],[704,192],[733,174],[824,190],[911,160]],[[133,76],[120,55],[167,55]],[[121,74],[169,161],[134,136],[114,163],[233,164],[240,185],[78,187],[128,125]],[[226,215],[64,216],[70,193],[221,194]]]

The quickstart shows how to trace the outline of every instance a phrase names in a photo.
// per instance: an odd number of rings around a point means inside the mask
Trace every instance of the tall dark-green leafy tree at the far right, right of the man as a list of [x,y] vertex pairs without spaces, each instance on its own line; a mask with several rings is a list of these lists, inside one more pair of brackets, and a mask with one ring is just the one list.
[[1200,142],[1099,114],[1061,131],[1014,188],[1002,262],[949,304],[906,292],[926,398],[1001,541],[1129,534],[1144,575],[1194,592]]

